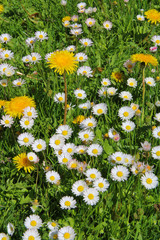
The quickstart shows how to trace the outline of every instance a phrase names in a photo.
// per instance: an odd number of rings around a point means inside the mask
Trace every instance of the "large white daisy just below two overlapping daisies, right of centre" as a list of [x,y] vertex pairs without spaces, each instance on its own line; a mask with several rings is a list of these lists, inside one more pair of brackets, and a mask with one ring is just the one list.
[[128,168],[124,167],[124,166],[115,166],[112,168],[111,170],[111,178],[113,181],[125,181],[127,180],[129,176],[129,171]]

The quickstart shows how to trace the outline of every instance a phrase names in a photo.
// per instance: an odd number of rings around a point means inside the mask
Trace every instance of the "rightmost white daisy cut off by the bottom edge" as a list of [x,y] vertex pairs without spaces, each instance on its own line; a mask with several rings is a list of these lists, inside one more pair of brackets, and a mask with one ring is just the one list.
[[60,228],[58,231],[58,239],[59,240],[74,240],[76,233],[74,229],[70,226]]

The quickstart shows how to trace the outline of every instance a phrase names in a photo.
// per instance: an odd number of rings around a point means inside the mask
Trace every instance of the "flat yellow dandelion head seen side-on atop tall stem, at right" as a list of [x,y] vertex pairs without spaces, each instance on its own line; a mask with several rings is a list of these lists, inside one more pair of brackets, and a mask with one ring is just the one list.
[[143,54],[143,53],[140,53],[140,54],[133,54],[131,56],[131,61],[132,62],[141,62],[141,63],[145,63],[145,65],[147,64],[151,64],[153,66],[157,66],[158,65],[158,61],[155,57],[153,57],[152,55],[150,54]]

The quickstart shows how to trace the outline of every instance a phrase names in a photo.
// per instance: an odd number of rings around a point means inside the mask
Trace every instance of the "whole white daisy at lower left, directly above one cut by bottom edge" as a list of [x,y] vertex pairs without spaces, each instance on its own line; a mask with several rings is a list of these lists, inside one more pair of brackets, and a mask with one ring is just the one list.
[[24,221],[24,226],[27,229],[39,229],[42,226],[42,219],[35,214],[30,215]]

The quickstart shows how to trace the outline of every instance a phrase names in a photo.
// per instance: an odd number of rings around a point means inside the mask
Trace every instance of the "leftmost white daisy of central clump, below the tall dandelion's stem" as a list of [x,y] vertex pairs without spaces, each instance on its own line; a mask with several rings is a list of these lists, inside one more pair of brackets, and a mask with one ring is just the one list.
[[56,150],[61,149],[64,146],[64,144],[65,144],[65,139],[60,134],[54,134],[49,140],[50,147]]

